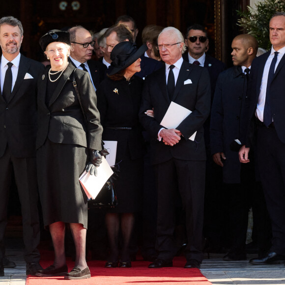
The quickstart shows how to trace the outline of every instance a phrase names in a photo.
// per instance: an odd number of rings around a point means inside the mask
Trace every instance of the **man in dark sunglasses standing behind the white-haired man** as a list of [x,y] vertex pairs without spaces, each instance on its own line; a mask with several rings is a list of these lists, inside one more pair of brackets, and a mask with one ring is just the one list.
[[[185,44],[188,52],[183,54],[184,60],[192,64],[205,67],[211,80],[211,102],[213,101],[216,82],[219,74],[225,70],[226,65],[209,56],[206,51],[209,48],[209,39],[206,29],[195,24],[187,28]],[[219,252],[225,246],[225,226],[223,221],[223,196],[222,172],[213,163],[210,151],[210,116],[204,123],[204,140],[206,145],[206,186],[205,186],[205,208],[204,208],[204,236],[207,238],[207,250]]]

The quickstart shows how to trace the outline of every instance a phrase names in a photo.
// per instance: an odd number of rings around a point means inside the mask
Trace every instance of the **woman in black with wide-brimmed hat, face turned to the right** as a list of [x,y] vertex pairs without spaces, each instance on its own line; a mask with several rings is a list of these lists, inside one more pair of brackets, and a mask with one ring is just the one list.
[[[103,125],[103,140],[116,141],[116,168],[119,170],[114,186],[118,206],[106,214],[110,256],[105,267],[131,267],[129,244],[134,227],[134,212],[141,210],[143,138],[139,123],[143,80],[133,76],[141,71],[139,50],[130,42],[117,44],[112,53],[112,67],[98,94],[98,110]],[[119,253],[119,230],[123,245]]]

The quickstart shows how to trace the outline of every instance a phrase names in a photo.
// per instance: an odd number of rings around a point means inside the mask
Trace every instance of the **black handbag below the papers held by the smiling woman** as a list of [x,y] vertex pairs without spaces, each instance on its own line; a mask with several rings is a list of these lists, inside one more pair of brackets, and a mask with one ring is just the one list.
[[88,200],[89,208],[114,208],[118,204],[114,183],[109,178],[95,199]]

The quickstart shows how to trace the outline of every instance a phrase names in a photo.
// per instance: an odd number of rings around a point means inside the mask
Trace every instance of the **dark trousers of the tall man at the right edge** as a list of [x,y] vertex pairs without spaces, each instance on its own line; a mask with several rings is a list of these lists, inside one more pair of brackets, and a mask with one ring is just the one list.
[[258,126],[257,159],[272,224],[271,251],[285,255],[285,143],[274,127]]

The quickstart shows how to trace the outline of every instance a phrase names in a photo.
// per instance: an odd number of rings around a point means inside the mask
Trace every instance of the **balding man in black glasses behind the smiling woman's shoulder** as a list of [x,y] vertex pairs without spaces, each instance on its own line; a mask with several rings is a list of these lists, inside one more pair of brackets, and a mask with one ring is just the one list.
[[91,82],[95,88],[105,78],[106,66],[95,60],[91,60],[95,41],[92,40],[91,34],[82,26],[76,26],[69,29],[70,32],[70,60],[73,65],[89,73]]

